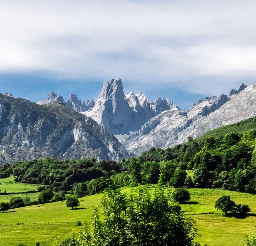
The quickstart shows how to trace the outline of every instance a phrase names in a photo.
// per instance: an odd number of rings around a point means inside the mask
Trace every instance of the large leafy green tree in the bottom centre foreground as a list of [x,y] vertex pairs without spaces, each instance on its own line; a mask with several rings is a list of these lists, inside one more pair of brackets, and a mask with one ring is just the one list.
[[194,245],[193,221],[170,203],[161,186],[153,197],[145,186],[127,196],[110,180],[101,203],[103,220],[96,208],[93,230],[84,236],[86,245]]

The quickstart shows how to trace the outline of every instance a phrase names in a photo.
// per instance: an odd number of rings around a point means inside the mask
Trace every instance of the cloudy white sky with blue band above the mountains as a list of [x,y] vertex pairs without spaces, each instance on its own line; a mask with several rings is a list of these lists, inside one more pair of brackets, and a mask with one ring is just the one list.
[[125,93],[181,108],[256,75],[256,1],[1,1],[0,92]]

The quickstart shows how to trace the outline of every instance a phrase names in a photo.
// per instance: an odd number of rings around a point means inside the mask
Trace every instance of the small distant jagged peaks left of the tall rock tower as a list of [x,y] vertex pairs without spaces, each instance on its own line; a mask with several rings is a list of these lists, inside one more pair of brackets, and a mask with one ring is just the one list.
[[57,96],[53,91],[48,94],[46,99],[40,100],[37,102],[39,105],[43,104],[51,104],[53,102],[59,102],[65,104],[68,108],[75,110],[76,112],[85,112],[87,110],[91,110],[95,104],[93,99],[81,102],[80,99],[77,98],[76,94],[71,94],[68,96],[68,99],[64,101],[62,96]]

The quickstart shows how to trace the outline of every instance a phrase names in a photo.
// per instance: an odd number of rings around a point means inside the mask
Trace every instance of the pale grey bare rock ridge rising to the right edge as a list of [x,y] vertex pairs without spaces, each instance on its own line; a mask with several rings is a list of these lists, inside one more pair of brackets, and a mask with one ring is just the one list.
[[[240,87],[241,88],[241,87]],[[210,130],[256,115],[256,82],[232,98],[207,97],[188,111],[168,110],[146,122],[131,135],[118,135],[129,151],[139,155],[152,147],[167,148]]]

